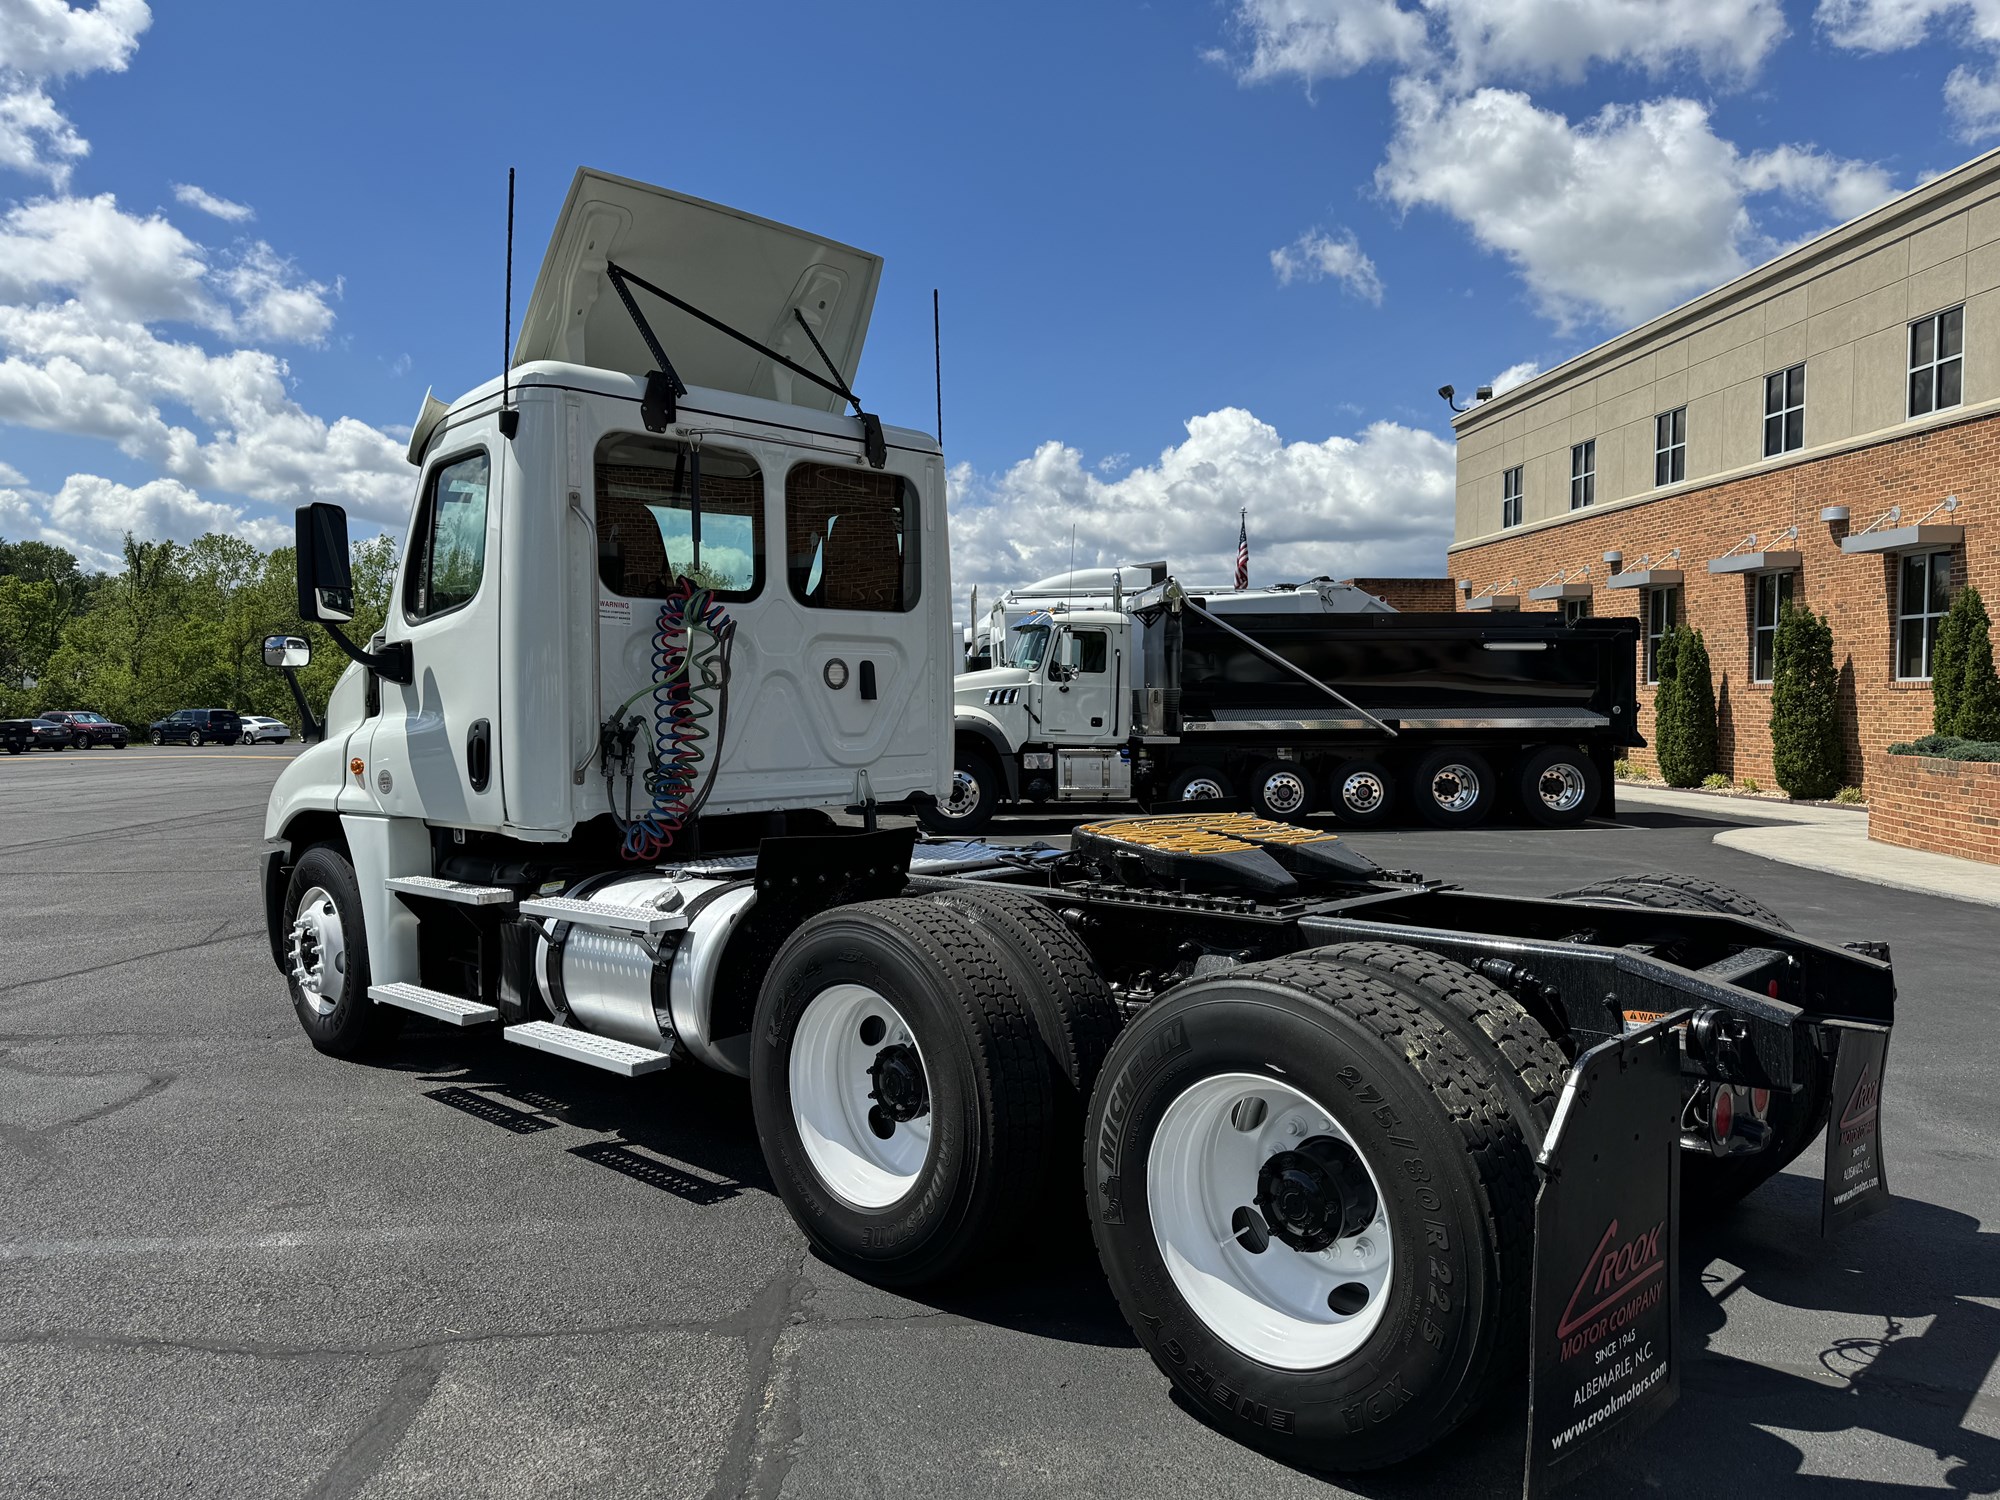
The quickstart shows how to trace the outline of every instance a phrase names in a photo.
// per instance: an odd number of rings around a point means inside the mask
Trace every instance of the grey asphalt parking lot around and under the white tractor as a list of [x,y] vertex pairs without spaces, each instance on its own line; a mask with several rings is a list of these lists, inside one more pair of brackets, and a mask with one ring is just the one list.
[[[0,758],[0,1494],[1520,1492],[1518,1404],[1350,1490],[1236,1446],[1062,1236],[924,1300],[830,1270],[728,1080],[426,1024],[312,1052],[254,880],[290,752]],[[1900,1202],[1822,1244],[1814,1148],[1690,1234],[1682,1400],[1576,1494],[2000,1492],[1994,914],[1718,826],[1356,838],[1498,890],[1702,874],[1894,944]]]

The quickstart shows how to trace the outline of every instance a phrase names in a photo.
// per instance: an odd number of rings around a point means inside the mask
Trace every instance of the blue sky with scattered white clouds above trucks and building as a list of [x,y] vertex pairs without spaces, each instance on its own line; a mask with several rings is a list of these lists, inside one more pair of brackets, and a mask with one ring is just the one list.
[[[1438,384],[1550,366],[2000,132],[2000,0],[0,0],[0,536],[394,528],[578,164],[880,252],[954,568],[1438,572]],[[220,214],[216,212],[220,210]]]

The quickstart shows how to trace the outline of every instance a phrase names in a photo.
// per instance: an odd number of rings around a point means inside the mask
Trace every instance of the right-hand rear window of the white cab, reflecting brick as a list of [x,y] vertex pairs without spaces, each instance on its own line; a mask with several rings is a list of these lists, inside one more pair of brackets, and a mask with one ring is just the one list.
[[784,476],[784,562],[792,598],[806,608],[914,610],[916,486],[896,474],[796,464]]

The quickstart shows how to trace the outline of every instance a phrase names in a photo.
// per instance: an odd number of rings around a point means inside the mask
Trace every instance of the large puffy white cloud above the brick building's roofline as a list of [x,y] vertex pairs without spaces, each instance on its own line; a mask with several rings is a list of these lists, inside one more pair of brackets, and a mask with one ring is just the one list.
[[1562,326],[1642,322],[1730,280],[1780,244],[1750,212],[1778,194],[1852,218],[1890,178],[1798,146],[1744,154],[1686,98],[1610,104],[1570,122],[1526,94],[1396,86],[1396,136],[1376,186],[1440,208],[1520,270]]

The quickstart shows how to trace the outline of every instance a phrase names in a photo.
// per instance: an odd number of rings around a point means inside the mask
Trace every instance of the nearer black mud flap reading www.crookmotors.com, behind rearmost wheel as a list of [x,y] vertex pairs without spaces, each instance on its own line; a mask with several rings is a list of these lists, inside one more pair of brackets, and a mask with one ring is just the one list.
[[1680,1394],[1678,1010],[1576,1060],[1534,1200],[1526,1500],[1650,1428]]

